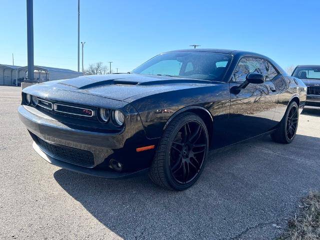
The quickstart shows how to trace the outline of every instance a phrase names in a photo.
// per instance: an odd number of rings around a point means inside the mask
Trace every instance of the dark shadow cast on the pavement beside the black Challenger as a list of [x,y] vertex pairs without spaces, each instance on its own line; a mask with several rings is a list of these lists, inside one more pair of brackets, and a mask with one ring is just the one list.
[[[269,136],[210,153],[191,188],[175,192],[139,176],[109,180],[59,169],[58,184],[97,220],[124,239],[273,239],[299,197],[320,185],[320,138],[292,144]],[[306,146],[300,153],[301,146]]]

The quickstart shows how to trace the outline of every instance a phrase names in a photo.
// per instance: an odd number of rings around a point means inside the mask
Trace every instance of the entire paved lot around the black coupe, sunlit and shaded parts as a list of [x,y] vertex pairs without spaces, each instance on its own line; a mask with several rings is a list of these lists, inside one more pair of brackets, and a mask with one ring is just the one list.
[[[288,145],[269,136],[210,154],[183,192],[147,176],[108,180],[50,165],[0,86],[0,239],[274,239],[298,199],[320,188],[320,111]],[[275,224],[277,227],[275,227]]]

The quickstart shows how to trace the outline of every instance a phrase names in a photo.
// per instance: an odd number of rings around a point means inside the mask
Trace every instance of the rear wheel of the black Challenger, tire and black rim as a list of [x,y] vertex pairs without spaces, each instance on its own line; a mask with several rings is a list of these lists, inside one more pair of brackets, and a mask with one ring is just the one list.
[[279,127],[271,133],[271,138],[279,143],[291,143],[295,137],[299,120],[298,105],[292,101],[286,108]]

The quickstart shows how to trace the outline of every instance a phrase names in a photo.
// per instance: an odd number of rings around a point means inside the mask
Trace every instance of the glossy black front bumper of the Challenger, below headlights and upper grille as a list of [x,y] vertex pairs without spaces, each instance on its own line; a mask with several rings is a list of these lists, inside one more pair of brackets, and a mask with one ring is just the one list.
[[[138,114],[127,121],[122,132],[101,133],[74,129],[29,106],[20,105],[18,112],[20,120],[33,138],[33,148],[40,156],[51,164],[86,174],[123,178],[145,172],[151,164],[154,149],[136,152],[136,148],[156,145],[158,141],[145,136]],[[45,147],[43,141],[52,147]],[[66,147],[70,154],[72,149],[89,152],[92,155],[92,164],[89,161],[85,164],[72,162],[69,157],[58,154],[53,146],[60,147],[58,149]],[[121,162],[123,170],[118,172],[110,168],[110,159]]]

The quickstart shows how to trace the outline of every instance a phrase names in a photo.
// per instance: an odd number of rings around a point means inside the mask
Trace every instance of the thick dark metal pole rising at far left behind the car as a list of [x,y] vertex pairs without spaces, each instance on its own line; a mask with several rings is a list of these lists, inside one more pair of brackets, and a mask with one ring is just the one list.
[[33,78],[34,78],[34,65],[33,65],[33,0],[26,0],[26,38],[27,38],[28,80],[33,81]]

